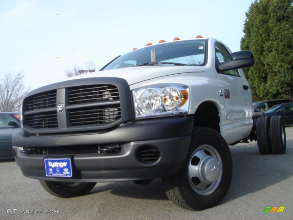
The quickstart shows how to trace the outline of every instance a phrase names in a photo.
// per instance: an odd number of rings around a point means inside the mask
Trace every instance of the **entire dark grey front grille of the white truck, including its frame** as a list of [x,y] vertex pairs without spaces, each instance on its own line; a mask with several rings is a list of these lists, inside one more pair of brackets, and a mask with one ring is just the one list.
[[104,130],[134,118],[131,91],[121,78],[69,80],[37,91],[22,109],[23,128],[32,134]]

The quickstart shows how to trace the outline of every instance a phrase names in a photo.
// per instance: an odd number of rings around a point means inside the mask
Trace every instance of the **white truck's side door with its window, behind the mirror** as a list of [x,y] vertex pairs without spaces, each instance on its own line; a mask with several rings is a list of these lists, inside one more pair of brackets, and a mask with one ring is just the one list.
[[[215,43],[216,62],[225,62],[231,59],[229,50],[222,43]],[[251,90],[241,69],[217,73],[222,84],[219,95],[224,99],[224,130],[225,138],[238,141],[239,136],[246,138],[252,128],[252,98]],[[228,142],[228,141],[227,141]]]

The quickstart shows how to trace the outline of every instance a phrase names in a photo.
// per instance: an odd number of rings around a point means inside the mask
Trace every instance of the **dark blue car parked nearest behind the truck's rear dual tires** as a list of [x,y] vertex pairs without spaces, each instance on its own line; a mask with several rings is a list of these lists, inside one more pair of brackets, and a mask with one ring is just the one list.
[[261,116],[267,116],[270,118],[275,115],[282,116],[282,121],[285,127],[293,126],[293,102],[272,106],[270,109],[268,109],[268,111],[265,111],[259,115],[255,115],[253,117],[253,123],[256,124],[257,119]]

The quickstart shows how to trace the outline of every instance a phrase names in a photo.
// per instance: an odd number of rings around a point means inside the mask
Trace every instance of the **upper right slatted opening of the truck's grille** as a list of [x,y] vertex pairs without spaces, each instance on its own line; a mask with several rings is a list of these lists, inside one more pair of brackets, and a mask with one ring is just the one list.
[[119,100],[119,92],[114,85],[89,85],[69,88],[69,104]]

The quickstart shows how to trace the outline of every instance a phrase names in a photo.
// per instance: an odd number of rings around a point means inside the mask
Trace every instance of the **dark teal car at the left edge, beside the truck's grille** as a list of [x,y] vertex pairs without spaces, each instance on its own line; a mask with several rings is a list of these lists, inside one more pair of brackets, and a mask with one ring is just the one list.
[[0,112],[0,159],[14,158],[11,138],[20,129],[20,113]]

